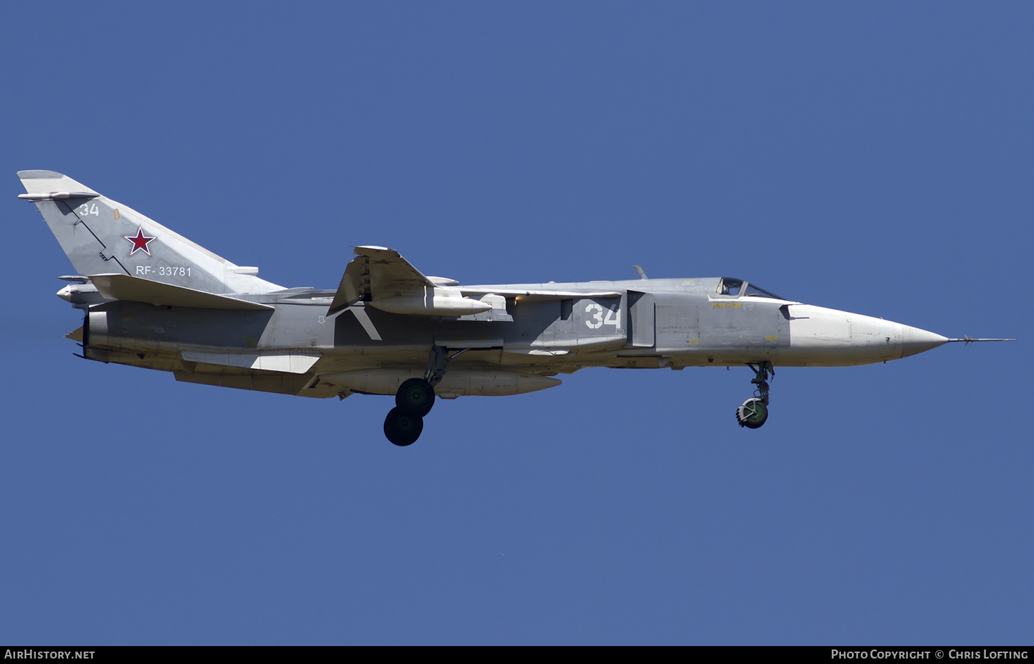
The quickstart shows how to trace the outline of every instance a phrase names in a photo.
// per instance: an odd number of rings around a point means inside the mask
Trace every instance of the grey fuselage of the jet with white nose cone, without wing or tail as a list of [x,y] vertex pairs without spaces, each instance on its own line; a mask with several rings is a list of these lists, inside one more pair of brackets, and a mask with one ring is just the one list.
[[[87,356],[174,371],[181,380],[213,373],[205,371],[209,366],[237,367],[242,371],[220,374],[257,376],[273,391],[302,393],[308,385],[309,396],[333,396],[337,387],[393,393],[401,380],[423,375],[429,349],[438,346],[463,351],[450,362],[454,376],[494,371],[526,379],[526,388],[460,390],[493,394],[552,386],[536,381],[585,367],[682,369],[760,361],[845,367],[898,359],[948,341],[881,318],[784,299],[728,278],[463,289],[475,296],[508,295],[497,296],[505,302],[491,311],[469,316],[397,314],[363,302],[327,316],[335,291],[307,288],[238,295],[272,305],[269,311],[108,302],[87,313]],[[530,294],[514,294],[519,291]],[[572,296],[543,294],[549,292]],[[302,365],[306,357],[311,360],[304,372],[299,357]],[[243,386],[232,384],[235,380],[243,379],[220,379],[219,384]],[[318,393],[311,392],[313,382]],[[444,385],[439,391],[449,394],[448,389]]]

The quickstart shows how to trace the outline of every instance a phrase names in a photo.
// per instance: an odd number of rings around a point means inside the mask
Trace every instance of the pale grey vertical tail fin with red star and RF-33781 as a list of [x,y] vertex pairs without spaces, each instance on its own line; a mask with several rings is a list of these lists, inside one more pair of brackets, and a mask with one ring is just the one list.
[[281,286],[258,279],[134,210],[53,170],[20,170],[36,203],[80,275],[126,274],[211,293],[262,293]]

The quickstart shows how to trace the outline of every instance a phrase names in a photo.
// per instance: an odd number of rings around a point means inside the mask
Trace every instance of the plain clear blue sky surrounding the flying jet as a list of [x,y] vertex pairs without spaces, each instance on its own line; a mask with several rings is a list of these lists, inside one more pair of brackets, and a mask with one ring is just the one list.
[[[0,641],[1032,640],[1034,8],[0,8]],[[284,286],[737,276],[950,345],[310,401],[89,362],[14,172]],[[1023,270],[1023,271],[1022,271]],[[1024,433],[1028,432],[1028,433]]]

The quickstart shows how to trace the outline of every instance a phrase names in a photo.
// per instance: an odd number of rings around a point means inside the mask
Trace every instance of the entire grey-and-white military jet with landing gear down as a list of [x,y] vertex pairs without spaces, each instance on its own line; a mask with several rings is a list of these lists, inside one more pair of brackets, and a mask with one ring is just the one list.
[[584,367],[750,367],[741,426],[768,417],[780,367],[914,355],[948,339],[787,299],[740,279],[461,286],[393,249],[356,247],[336,290],[284,288],[53,170],[18,173],[77,275],[82,357],[176,380],[301,397],[394,394],[385,435],[414,443],[434,397],[560,384]]

